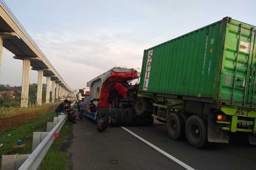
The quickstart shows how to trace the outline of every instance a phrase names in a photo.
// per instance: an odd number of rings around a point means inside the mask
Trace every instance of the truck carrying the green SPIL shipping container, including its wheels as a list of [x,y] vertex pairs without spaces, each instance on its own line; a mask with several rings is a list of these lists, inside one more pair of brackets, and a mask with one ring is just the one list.
[[196,148],[230,138],[256,144],[255,32],[225,17],[148,48],[137,98],[128,105],[120,99],[116,119],[150,125],[152,116],[172,139]]

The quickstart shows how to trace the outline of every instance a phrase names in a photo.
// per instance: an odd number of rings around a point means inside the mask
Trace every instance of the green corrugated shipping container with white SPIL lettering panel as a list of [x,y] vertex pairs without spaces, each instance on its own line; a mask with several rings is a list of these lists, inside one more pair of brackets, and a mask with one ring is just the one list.
[[139,91],[253,108],[255,32],[226,17],[145,50]]

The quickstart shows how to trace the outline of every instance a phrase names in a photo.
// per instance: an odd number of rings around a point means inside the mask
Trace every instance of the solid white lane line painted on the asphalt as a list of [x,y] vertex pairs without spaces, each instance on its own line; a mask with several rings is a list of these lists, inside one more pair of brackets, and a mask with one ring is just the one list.
[[154,144],[146,141],[145,139],[139,137],[138,135],[136,135],[134,132],[132,132],[131,130],[128,130],[126,129],[125,127],[121,127],[123,128],[124,130],[126,130],[127,132],[131,133],[133,136],[135,136],[136,138],[138,138],[139,140],[145,142],[146,144],[148,144],[150,147],[154,148],[155,150],[157,150],[158,152],[160,152],[161,154],[164,154],[165,156],[169,157],[169,159],[171,159],[172,161],[180,164],[181,166],[183,166],[184,168],[186,169],[189,169],[189,170],[195,170],[194,168],[190,167],[189,165],[181,162],[180,160],[178,160],[176,157],[170,155],[169,153],[166,153],[165,151],[161,150],[160,148],[156,147]]

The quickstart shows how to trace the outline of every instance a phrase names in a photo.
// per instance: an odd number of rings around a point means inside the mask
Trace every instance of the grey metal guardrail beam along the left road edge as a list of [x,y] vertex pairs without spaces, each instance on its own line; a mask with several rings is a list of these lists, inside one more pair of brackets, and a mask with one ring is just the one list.
[[55,139],[54,134],[59,133],[66,119],[67,115],[65,115],[60,120],[60,122],[57,123],[57,125],[49,132],[49,134],[42,140],[38,147],[29,155],[28,159],[19,167],[19,170],[37,169],[39,167],[44,156],[50,149],[52,142]]

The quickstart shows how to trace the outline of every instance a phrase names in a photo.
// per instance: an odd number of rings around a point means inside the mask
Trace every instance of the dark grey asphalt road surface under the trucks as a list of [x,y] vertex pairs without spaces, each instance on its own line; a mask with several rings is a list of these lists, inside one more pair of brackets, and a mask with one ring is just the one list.
[[[155,120],[151,127],[126,127],[194,169],[256,169],[256,147],[212,143],[203,149],[168,137],[166,125]],[[99,133],[89,118],[73,127],[72,169],[185,169],[121,127]]]

